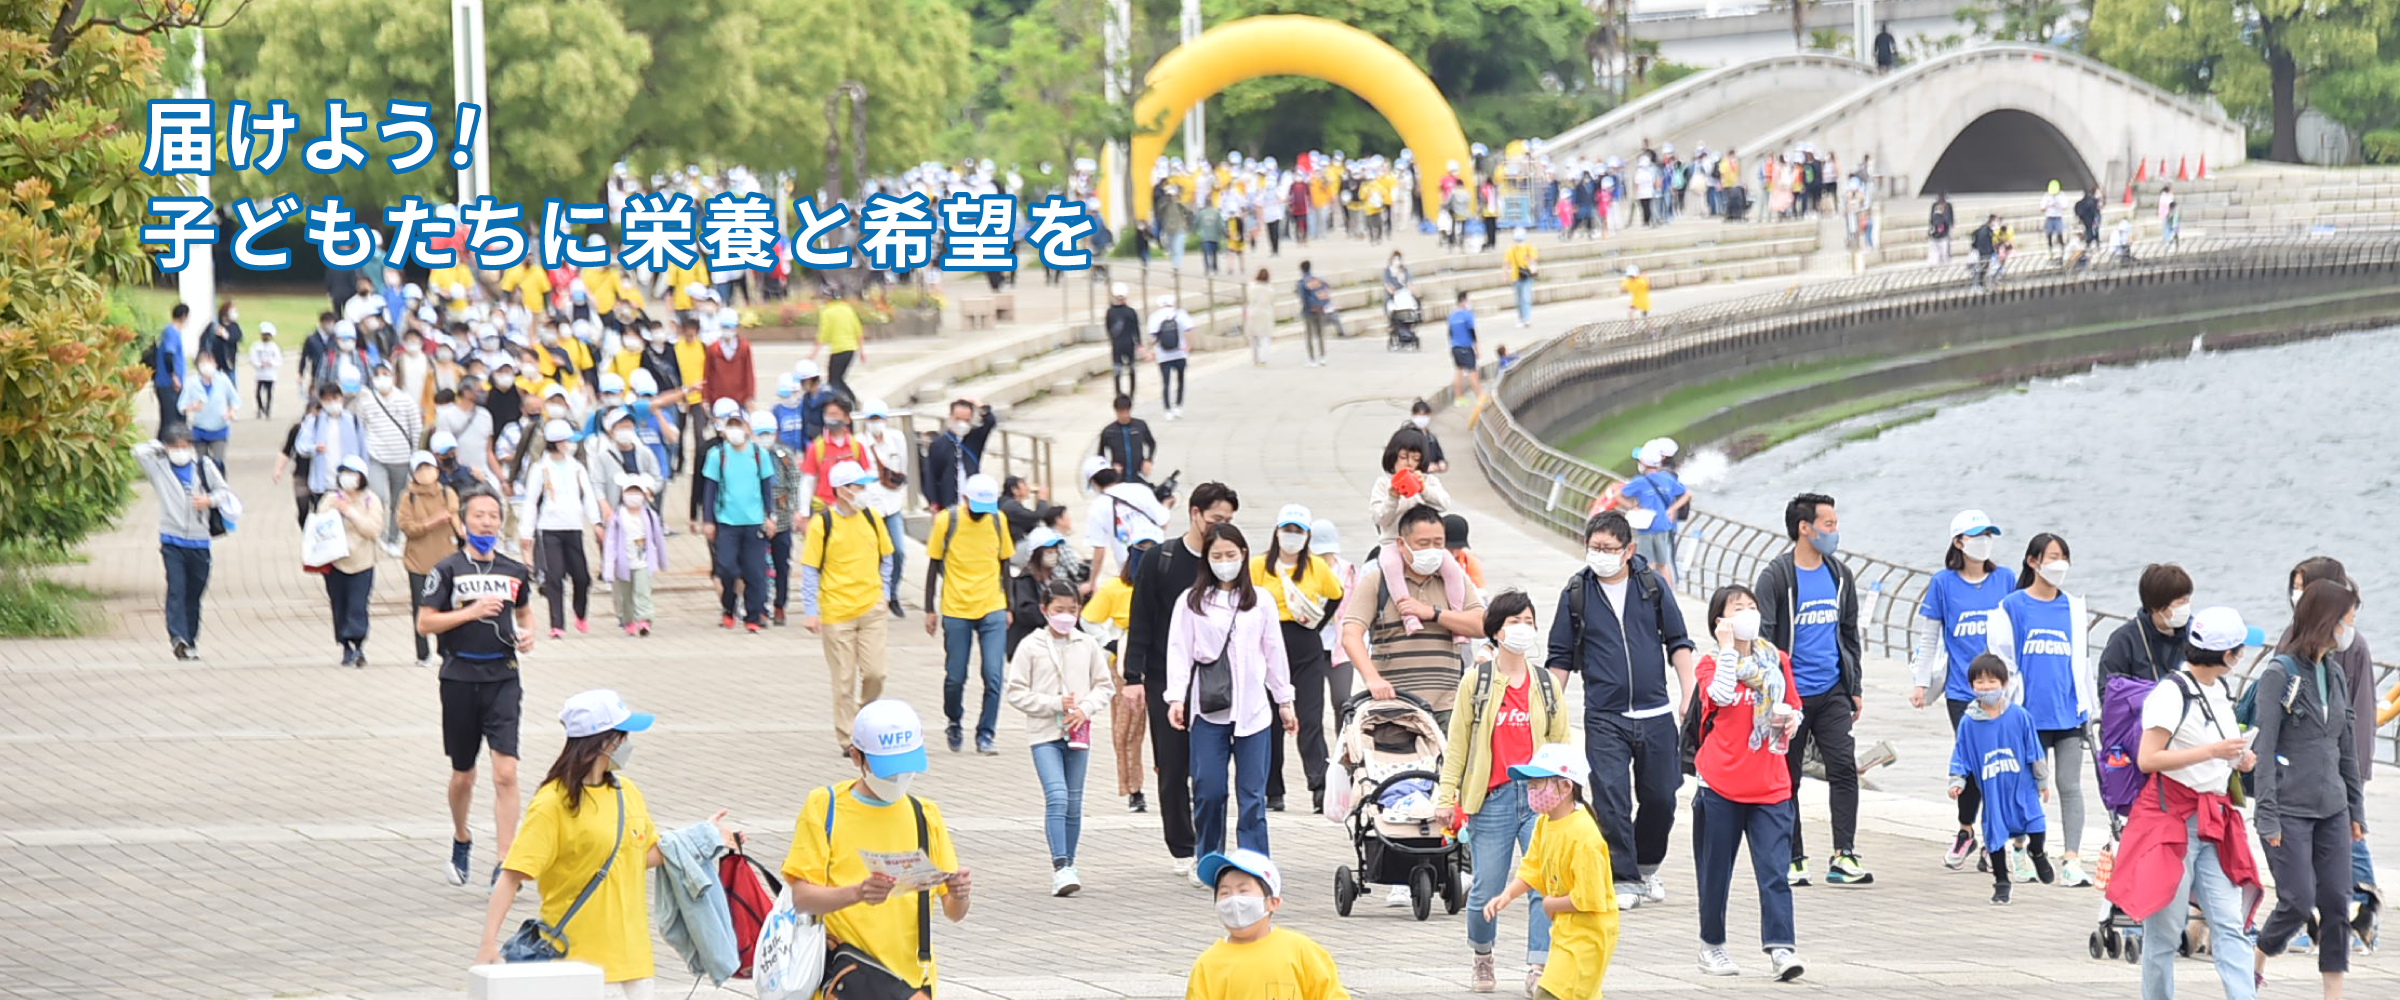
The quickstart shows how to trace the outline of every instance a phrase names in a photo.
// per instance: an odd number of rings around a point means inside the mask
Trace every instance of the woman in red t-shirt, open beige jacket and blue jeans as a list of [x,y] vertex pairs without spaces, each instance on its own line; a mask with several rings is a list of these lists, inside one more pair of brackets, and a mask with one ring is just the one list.
[[[1490,993],[1493,945],[1500,926],[1483,916],[1483,904],[1507,887],[1517,871],[1517,851],[1534,842],[1534,808],[1526,806],[1529,779],[1510,767],[1534,760],[1543,743],[1572,741],[1565,695],[1546,669],[1526,659],[1541,645],[1534,602],[1524,590],[1505,590],[1483,609],[1483,633],[1495,635],[1490,659],[1459,676],[1457,705],[1450,715],[1450,753],[1442,753],[1442,777],[1433,789],[1433,808],[1452,830],[1469,832],[1476,880],[1466,890],[1466,947],[1474,952],[1476,993]],[[1550,962],[1550,914],[1531,906],[1524,921],[1524,986],[1541,981]]]

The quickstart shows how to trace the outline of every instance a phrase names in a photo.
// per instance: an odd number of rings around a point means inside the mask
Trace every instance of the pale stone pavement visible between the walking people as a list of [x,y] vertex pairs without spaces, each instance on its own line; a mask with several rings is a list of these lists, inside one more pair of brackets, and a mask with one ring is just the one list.
[[[1661,293],[1661,307],[1699,295]],[[1582,309],[1589,312],[1589,309]],[[1589,319],[1550,307],[1519,333],[1488,317],[1488,341],[1555,333]],[[1334,343],[1334,367],[1303,369],[1279,343],[1274,367],[1243,355],[1198,362],[1190,417],[1157,422],[1162,468],[1186,482],[1224,477],[1246,494],[1241,523],[1262,537],[1267,516],[1301,501],[1368,540],[1363,496],[1406,400],[1447,379],[1440,350],[1387,355],[1382,338]],[[1301,420],[1294,420],[1301,415]],[[1145,408],[1145,417],[1157,420]],[[1020,429],[1058,434],[1068,453],[1106,420],[1106,396],[1085,388],[1013,412]],[[218,547],[204,616],[206,662],[168,657],[158,619],[154,506],[60,573],[106,595],[110,631],[84,640],[0,643],[0,993],[17,998],[456,998],[473,957],[482,894],[439,880],[446,856],[434,676],[410,667],[406,595],[396,566],[377,588],[374,667],[338,669],[319,585],[298,573],[288,487],[266,482],[283,424],[242,422],[233,482],[252,504],[242,532]],[[1471,468],[1457,415],[1445,417],[1450,489],[1476,523],[1476,549],[1495,585],[1524,585],[1548,612],[1574,568],[1555,537],[1502,513]],[[1836,489],[1838,492],[1838,489]],[[1080,513],[1080,511],[1078,511]],[[614,686],[660,715],[629,772],[660,823],[732,808],[766,861],[780,861],[802,796],[842,767],[816,643],[797,628],[763,638],[713,628],[696,576],[696,540],[672,542],[660,631],[648,640],[600,631],[542,643],[526,664],[526,787],[557,753],[547,722],[569,693]],[[598,607],[607,607],[595,595]],[[922,631],[895,628],[893,695],[938,717],[938,652]],[[1810,974],[1798,988],[1855,998],[2131,995],[2122,962],[2083,957],[2098,914],[2088,890],[2026,887],[1992,909],[1987,882],[1937,866],[1946,803],[1934,799],[1946,751],[1937,712],[1908,712],[1896,667],[1877,664],[1862,731],[1894,739],[1901,765],[1877,772],[1860,849],[1874,887],[1798,892]],[[960,854],[979,873],[974,914],[936,930],[946,998],[1082,1000],[1171,998],[1193,954],[1217,935],[1200,890],[1169,878],[1152,815],[1126,815],[1106,794],[1111,763],[1092,765],[1082,871],[1087,890],[1046,897],[1042,799],[1018,719],[1001,712],[996,758],[936,751],[917,791],[943,803]],[[1294,775],[1296,777],[1296,775]],[[487,791],[478,823],[487,827]],[[1802,794],[1824,849],[1822,787]],[[2378,799],[2378,815],[2388,803]],[[1332,914],[1332,868],[1346,839],[1318,818],[1277,815],[1274,849],[1291,885],[1284,923],[1322,940],[1361,995],[1462,995],[1466,950],[1457,916],[1418,926],[1363,899]],[[1666,866],[1670,899],[1627,914],[1613,990],[1759,990],[1754,904],[1733,897],[1733,952],[1747,974],[1704,981],[1692,966],[1694,914],[1687,839]],[[2378,837],[2386,856],[2400,842]],[[490,866],[478,847],[478,868]],[[1740,882],[1738,882],[1740,885]],[[530,894],[526,897],[530,899]],[[518,914],[528,904],[521,899]],[[1522,923],[1502,930],[1510,954]],[[672,959],[665,959],[672,962]],[[1510,964],[1502,964],[1507,971]],[[2306,959],[2282,959],[2268,995],[2314,995]],[[2213,990],[2208,966],[2182,962],[2186,990]],[[1507,976],[1505,976],[1507,978]],[[2364,959],[2352,995],[2393,995],[2386,962]],[[672,976],[670,976],[672,981]],[[662,990],[674,988],[660,983]],[[2191,993],[2210,995],[2210,993]]]

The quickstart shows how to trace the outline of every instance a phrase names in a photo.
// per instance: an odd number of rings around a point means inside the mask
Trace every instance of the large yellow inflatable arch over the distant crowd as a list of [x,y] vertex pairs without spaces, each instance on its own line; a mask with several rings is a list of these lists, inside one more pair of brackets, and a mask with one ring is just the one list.
[[[1466,132],[1433,79],[1382,38],[1342,22],[1303,14],[1246,17],[1219,24],[1188,46],[1159,58],[1142,77],[1145,91],[1133,106],[1133,218],[1150,218],[1150,168],[1166,137],[1183,122],[1190,106],[1207,101],[1243,79],[1315,77],[1342,86],[1392,122],[1399,141],[1416,151],[1416,197],[1426,218],[1440,209],[1440,165],[1469,163]],[[1157,122],[1157,132],[1145,132]]]

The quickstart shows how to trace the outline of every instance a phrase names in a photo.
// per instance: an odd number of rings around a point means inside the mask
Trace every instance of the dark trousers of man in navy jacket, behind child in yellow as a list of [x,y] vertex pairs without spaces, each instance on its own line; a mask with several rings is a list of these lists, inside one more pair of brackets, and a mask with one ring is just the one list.
[[1682,787],[1675,715],[1589,715],[1584,760],[1591,763],[1591,806],[1601,813],[1601,837],[1608,837],[1608,866],[1618,882],[1658,871],[1668,835],[1675,832],[1675,789]]

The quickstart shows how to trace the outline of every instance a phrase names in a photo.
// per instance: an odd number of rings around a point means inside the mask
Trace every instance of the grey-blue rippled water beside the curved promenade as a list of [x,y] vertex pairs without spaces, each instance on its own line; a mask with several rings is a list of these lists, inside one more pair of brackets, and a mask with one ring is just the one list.
[[[2400,329],[2206,353],[1860,417],[1730,465],[1694,456],[1687,480],[1702,508],[1771,528],[1793,494],[1831,494],[1843,549],[1918,568],[1942,566],[1949,518],[1975,506],[2004,566],[2035,532],[2066,537],[2066,590],[2093,609],[2136,612],[2141,568],[2172,561],[2198,607],[2270,635],[2292,564],[2330,554],[2371,631],[2400,621],[2393,379]],[[2400,657],[2400,635],[2376,657]]]

